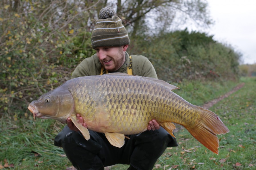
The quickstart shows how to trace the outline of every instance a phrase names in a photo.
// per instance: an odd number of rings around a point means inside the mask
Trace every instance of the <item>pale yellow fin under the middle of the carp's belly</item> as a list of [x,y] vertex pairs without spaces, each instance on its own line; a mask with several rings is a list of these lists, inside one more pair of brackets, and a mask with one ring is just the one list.
[[105,132],[105,135],[111,145],[118,148],[124,146],[124,134]]

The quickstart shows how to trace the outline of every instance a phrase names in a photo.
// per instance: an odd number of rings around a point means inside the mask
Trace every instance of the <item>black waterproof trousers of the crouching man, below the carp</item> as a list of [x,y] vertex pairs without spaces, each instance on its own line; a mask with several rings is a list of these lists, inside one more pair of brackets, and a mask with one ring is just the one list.
[[157,159],[167,146],[178,146],[165,129],[144,131],[136,135],[127,135],[121,148],[112,146],[104,133],[90,132],[87,141],[79,132],[67,126],[55,137],[54,145],[63,150],[76,169],[104,170],[104,167],[115,164],[130,164],[129,169],[153,169]]

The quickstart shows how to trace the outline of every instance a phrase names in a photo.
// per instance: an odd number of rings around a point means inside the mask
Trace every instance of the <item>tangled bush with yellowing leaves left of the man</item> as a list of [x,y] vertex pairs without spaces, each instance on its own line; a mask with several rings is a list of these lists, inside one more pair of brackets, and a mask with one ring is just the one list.
[[0,117],[22,116],[28,103],[68,80],[77,63],[93,53],[87,10],[52,3],[0,7]]

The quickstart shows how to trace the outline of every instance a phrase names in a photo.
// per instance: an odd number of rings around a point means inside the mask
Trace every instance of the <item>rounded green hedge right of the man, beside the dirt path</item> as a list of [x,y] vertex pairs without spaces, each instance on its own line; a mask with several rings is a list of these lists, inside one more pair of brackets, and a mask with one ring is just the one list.
[[195,31],[189,33],[185,29],[138,38],[138,42],[131,44],[130,53],[147,56],[162,80],[173,83],[183,79],[238,78],[241,54],[231,46],[214,41],[213,36]]

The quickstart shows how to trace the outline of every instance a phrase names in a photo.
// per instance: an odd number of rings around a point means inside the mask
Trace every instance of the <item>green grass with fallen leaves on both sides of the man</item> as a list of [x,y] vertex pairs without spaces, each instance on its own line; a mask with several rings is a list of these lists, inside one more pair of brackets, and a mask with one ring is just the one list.
[[[243,78],[245,86],[214,105],[230,132],[219,135],[219,155],[213,154],[190,133],[177,126],[178,147],[167,148],[155,169],[255,169],[256,79]],[[185,82],[175,84],[175,92],[192,104],[202,105],[230,91],[234,82]],[[28,112],[28,111],[24,111]],[[53,145],[63,124],[55,120],[32,120],[32,114],[18,120],[4,115],[0,119],[0,169],[66,169],[71,163],[62,148]],[[238,164],[239,163],[239,164]],[[241,164],[241,165],[240,165]],[[238,166],[239,165],[239,166]],[[252,166],[253,165],[253,166]],[[115,165],[111,170],[125,169]],[[8,169],[8,167],[6,168]]]

